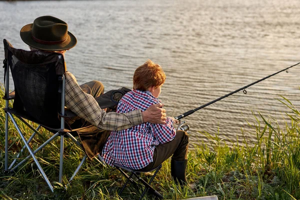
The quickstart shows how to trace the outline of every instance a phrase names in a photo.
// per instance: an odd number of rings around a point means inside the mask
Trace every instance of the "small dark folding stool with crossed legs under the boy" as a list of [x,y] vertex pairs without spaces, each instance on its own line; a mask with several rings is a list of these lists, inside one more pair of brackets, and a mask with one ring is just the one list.
[[[155,172],[152,175],[152,177],[149,180],[149,182],[146,182],[144,179],[142,179],[140,177],[141,173],[149,172],[149,171],[133,170],[133,169],[121,166],[121,165],[119,165],[117,163],[113,163],[113,165],[126,177],[126,182],[123,185],[123,187],[121,188],[121,190],[119,191],[119,195],[121,195],[122,191],[124,190],[124,188],[126,187],[126,185],[128,184],[129,181],[132,182],[132,183],[137,184],[137,182],[135,182],[134,179],[132,179],[132,177],[135,176],[137,178],[137,180],[140,181],[144,185],[144,190],[143,190],[142,194],[140,195],[139,199],[142,199],[142,197],[145,195],[145,193],[146,193],[147,190],[149,190],[152,194],[154,194],[158,198],[163,198],[163,196],[150,185],[151,182],[152,182],[152,180],[156,176],[158,170],[161,168],[161,166],[162,166],[161,164],[159,166],[157,166],[156,168],[153,168],[152,170],[150,170],[150,171],[154,171],[155,170]],[[129,172],[130,175],[128,176],[122,169],[126,170],[127,172]]]

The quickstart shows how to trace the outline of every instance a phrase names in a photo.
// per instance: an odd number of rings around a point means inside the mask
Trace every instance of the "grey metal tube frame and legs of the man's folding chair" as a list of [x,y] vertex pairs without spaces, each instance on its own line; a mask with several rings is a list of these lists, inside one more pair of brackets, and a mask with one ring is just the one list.
[[[18,113],[13,111],[13,108],[9,107],[9,100],[14,99],[14,96],[12,96],[12,92],[9,93],[9,64],[7,61],[7,47],[8,45],[10,47],[12,47],[10,45],[10,43],[4,39],[4,50],[5,50],[5,59],[3,60],[4,63],[4,83],[5,83],[5,95],[3,96],[3,99],[5,100],[5,108],[4,112],[5,112],[5,152],[4,152],[4,171],[5,172],[13,172],[18,166],[20,166],[23,162],[25,162],[29,157],[32,157],[40,174],[42,175],[42,177],[44,178],[44,180],[46,181],[48,187],[50,188],[50,190],[53,192],[53,186],[51,185],[50,181],[48,180],[46,174],[44,173],[43,169],[41,168],[38,160],[35,157],[35,153],[37,151],[39,151],[40,149],[42,149],[46,144],[48,144],[50,141],[52,141],[54,138],[56,138],[57,136],[60,136],[60,152],[59,152],[59,183],[62,183],[62,174],[63,174],[63,144],[64,144],[64,136],[66,135],[67,137],[69,137],[71,140],[73,140],[81,149],[83,149],[82,145],[78,142],[78,140],[72,135],[70,134],[70,131],[76,131],[78,129],[75,130],[68,130],[65,129],[64,127],[64,117],[66,117],[65,114],[65,109],[64,109],[64,94],[65,94],[65,77],[64,77],[64,73],[59,76],[59,84],[61,86],[61,113],[59,113],[60,115],[60,128],[59,129],[54,129],[54,128],[50,128],[47,127],[45,125],[39,124],[37,126],[37,128],[32,127],[28,122],[26,122],[24,120],[24,116],[19,115]],[[63,59],[63,55],[58,55],[61,56],[60,59]],[[21,132],[19,126],[17,125],[13,115],[15,115],[17,118],[19,118],[24,124],[26,124],[31,130],[33,130],[32,135],[30,136],[30,138],[28,140],[26,140],[26,138],[24,137],[23,133]],[[21,148],[20,152],[16,155],[15,159],[11,162],[10,166],[8,167],[8,120],[9,118],[11,119],[13,125],[15,126],[19,136],[21,137],[22,141],[24,142],[24,146]],[[30,119],[29,119],[30,120]],[[35,122],[34,120],[30,120]],[[38,148],[36,148],[35,150],[32,150],[29,146],[30,141],[33,139],[34,135],[36,133],[39,134],[38,129],[43,126],[43,127],[47,127],[49,129],[55,130],[57,131],[54,135],[52,135],[48,140],[46,140],[43,144],[41,144]],[[16,164],[14,167],[13,165],[16,163],[17,158],[20,156],[20,153],[27,148],[29,155],[27,157],[25,157],[22,161],[20,161],[18,164]],[[83,162],[86,160],[87,155],[85,154],[85,156],[82,158],[82,160],[80,161],[80,164],[77,166],[76,170],[74,171],[74,173],[72,174],[71,178],[69,179],[69,182],[74,178],[74,176],[76,175],[76,173],[78,172],[78,170],[80,169],[80,167],[82,166]],[[101,156],[98,155],[98,158],[94,158],[96,161],[98,161],[99,163],[101,163],[103,166],[106,166],[104,161],[102,160]]]

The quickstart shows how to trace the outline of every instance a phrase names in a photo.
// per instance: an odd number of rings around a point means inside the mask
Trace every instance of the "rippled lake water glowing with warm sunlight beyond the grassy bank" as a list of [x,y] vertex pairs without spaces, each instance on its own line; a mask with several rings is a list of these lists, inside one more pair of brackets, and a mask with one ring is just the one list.
[[[172,116],[300,60],[298,0],[0,1],[0,10],[0,36],[17,48],[27,49],[19,30],[34,18],[66,21],[78,42],[65,60],[79,84],[132,87],[135,68],[157,62],[167,76],[159,98]],[[185,117],[191,142],[207,141],[198,130],[218,129],[221,138],[241,138],[242,128],[254,139],[251,110],[282,123],[287,109],[277,98],[300,105],[299,74],[295,66]]]

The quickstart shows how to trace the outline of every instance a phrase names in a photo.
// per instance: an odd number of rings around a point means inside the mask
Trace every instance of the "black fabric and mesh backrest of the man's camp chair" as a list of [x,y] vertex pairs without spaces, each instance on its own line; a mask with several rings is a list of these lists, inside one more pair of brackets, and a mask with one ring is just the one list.
[[61,95],[64,96],[64,93],[58,92],[61,90],[61,77],[65,73],[63,55],[16,49],[6,39],[3,43],[5,59],[14,83],[13,109],[29,115],[35,122],[59,128],[58,113]]

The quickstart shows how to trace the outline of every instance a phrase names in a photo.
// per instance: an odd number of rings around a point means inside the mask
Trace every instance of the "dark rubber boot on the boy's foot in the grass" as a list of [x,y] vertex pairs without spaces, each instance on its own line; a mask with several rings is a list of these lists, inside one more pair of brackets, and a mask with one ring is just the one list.
[[176,161],[171,159],[171,176],[175,182],[179,182],[180,186],[188,185],[190,189],[196,188],[195,184],[188,184],[186,181],[186,165],[187,159],[183,161]]

